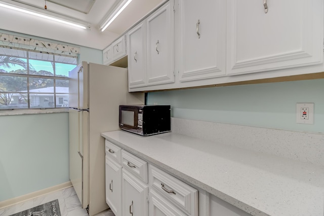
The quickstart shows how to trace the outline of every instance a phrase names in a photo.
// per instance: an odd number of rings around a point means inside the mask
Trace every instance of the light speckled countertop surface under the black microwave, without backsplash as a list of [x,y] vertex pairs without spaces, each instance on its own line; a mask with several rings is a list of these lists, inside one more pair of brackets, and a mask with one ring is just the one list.
[[101,133],[253,215],[324,215],[324,167],[177,133]]

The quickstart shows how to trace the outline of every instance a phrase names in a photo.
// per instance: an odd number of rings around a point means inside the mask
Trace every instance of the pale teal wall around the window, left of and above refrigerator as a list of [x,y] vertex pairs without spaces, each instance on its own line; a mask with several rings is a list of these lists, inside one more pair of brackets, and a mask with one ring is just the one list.
[[[80,61],[102,64],[102,50],[80,47]],[[68,181],[67,112],[0,116],[0,202]]]

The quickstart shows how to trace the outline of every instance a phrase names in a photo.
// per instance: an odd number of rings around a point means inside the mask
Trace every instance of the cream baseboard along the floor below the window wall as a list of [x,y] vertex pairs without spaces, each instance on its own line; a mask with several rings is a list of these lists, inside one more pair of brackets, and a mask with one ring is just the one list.
[[69,182],[66,182],[66,183],[62,183],[60,185],[52,186],[50,188],[35,191],[35,192],[30,193],[30,194],[25,194],[25,195],[15,197],[15,198],[12,198],[12,199],[7,199],[7,200],[4,200],[4,201],[0,202],[0,209],[8,207],[10,205],[14,205],[14,204],[17,204],[17,203],[20,203],[20,202],[24,202],[24,201],[36,198],[36,197],[39,197],[39,196],[43,196],[45,194],[49,194],[49,193],[52,193],[52,192],[55,192],[55,191],[59,191],[59,190],[65,189],[65,188],[69,188],[71,186],[72,186],[72,183],[69,181]]

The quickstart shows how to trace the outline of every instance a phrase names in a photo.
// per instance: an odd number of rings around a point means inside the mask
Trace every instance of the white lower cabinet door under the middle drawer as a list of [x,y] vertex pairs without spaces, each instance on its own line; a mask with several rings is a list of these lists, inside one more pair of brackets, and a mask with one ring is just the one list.
[[123,169],[123,216],[148,215],[148,186]]

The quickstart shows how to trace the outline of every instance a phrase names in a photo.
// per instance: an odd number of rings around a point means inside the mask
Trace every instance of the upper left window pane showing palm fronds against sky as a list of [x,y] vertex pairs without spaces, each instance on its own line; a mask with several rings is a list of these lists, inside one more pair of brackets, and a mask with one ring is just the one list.
[[27,74],[27,60],[0,55],[0,73]]

